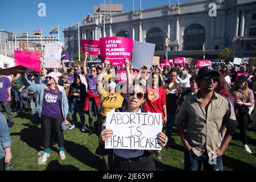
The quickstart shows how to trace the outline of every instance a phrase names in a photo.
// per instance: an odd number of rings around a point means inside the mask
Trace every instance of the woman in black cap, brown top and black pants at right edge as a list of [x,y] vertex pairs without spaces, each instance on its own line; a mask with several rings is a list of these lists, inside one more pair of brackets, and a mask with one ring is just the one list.
[[247,83],[247,77],[245,75],[240,75],[237,78],[236,84],[230,90],[232,96],[235,98],[234,106],[235,113],[237,117],[237,123],[240,130],[240,136],[242,138],[243,148],[246,152],[251,154],[251,150],[247,145],[247,122],[250,115],[248,114],[249,107],[254,104],[253,90],[249,89]]

